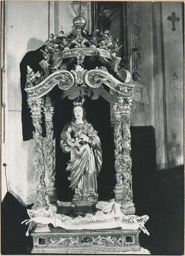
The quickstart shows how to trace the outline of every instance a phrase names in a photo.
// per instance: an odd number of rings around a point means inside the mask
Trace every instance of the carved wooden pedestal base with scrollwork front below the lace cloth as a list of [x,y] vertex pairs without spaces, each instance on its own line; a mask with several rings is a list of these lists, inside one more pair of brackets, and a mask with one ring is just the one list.
[[67,230],[51,228],[50,232],[35,232],[32,253],[101,253],[140,251],[138,230],[97,229]]

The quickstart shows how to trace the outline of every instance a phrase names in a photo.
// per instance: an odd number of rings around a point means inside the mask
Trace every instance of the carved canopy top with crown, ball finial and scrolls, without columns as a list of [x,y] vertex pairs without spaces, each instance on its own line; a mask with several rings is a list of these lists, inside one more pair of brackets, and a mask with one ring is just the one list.
[[[121,58],[116,57],[117,39],[108,36],[108,30],[102,33],[96,29],[89,34],[85,25],[86,19],[77,16],[73,20],[74,27],[70,35],[60,31],[58,35],[50,35],[45,42],[45,51],[40,66],[43,72],[32,71],[27,67],[27,83],[25,90],[28,99],[38,99],[47,95],[55,86],[63,90],[63,96],[74,99],[79,89],[82,94],[107,101],[118,102],[118,96],[132,96],[133,84],[129,84],[130,72],[119,69]],[[86,57],[96,58],[101,65],[93,69],[85,69]],[[76,61],[75,69],[70,70],[66,63]],[[103,89],[108,86],[110,94]],[[91,93],[89,93],[91,92]]]

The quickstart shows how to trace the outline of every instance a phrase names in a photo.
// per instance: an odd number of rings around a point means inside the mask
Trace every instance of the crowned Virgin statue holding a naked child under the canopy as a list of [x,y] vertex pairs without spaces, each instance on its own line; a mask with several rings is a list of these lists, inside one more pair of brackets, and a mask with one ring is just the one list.
[[68,180],[75,191],[72,203],[78,207],[92,206],[98,202],[97,176],[102,166],[101,142],[98,132],[85,118],[83,103],[77,101],[73,105],[72,120],[64,126],[60,147],[63,153],[70,152],[71,155],[66,171],[70,172]]

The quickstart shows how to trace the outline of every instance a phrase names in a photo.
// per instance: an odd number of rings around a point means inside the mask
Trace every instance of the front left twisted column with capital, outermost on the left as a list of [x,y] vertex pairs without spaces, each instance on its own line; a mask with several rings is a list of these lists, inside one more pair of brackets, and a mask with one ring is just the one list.
[[33,138],[35,140],[34,155],[35,155],[35,174],[36,174],[36,190],[37,190],[37,209],[47,209],[46,202],[46,186],[44,182],[45,166],[43,154],[43,136],[42,136],[42,99],[28,99],[28,106],[31,108],[31,117],[35,131]]

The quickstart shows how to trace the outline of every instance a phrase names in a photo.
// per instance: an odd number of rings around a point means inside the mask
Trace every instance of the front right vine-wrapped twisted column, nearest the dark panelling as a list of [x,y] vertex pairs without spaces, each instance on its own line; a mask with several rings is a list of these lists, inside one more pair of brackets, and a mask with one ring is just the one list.
[[[122,98],[122,97],[120,97]],[[130,119],[131,119],[131,106],[132,98],[122,98],[121,126],[122,126],[122,176],[123,176],[123,201],[121,203],[121,211],[123,214],[134,214],[135,207],[133,203],[132,192],[132,173],[130,157],[131,144],[130,144]]]

